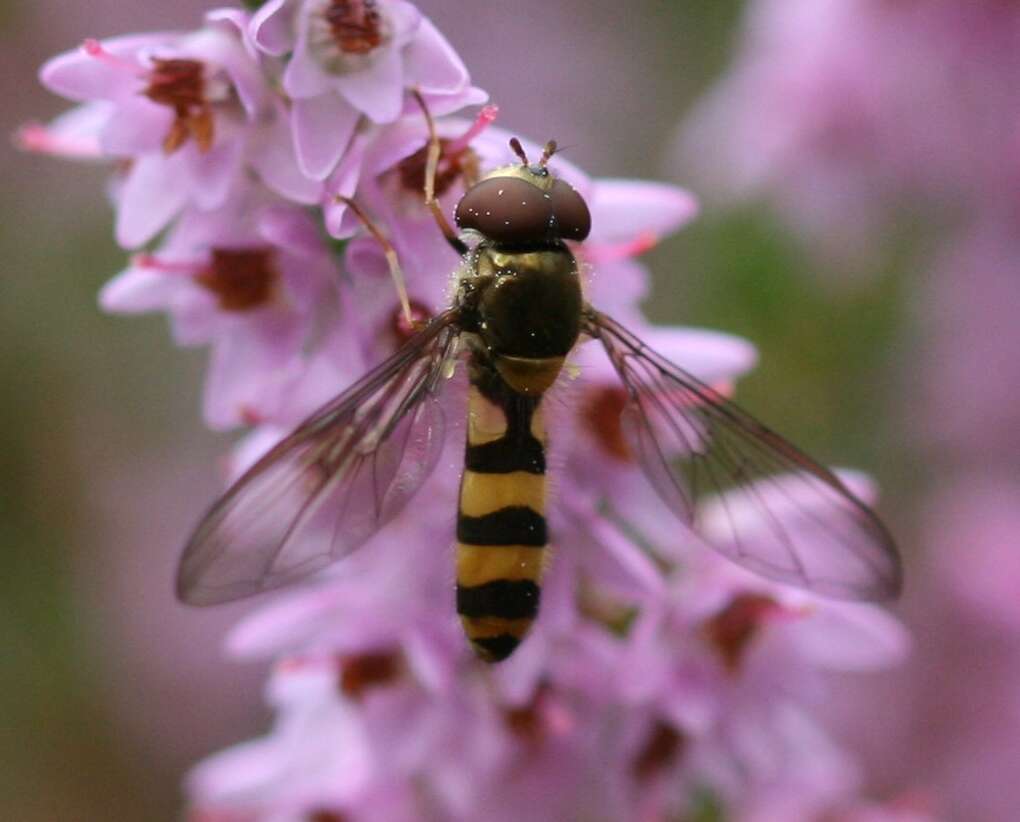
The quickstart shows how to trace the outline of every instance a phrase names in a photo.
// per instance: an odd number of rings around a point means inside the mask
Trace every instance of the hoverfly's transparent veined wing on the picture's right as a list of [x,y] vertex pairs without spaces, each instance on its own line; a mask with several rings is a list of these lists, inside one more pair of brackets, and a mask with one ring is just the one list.
[[892,537],[846,484],[592,308],[628,394],[623,427],[665,503],[712,548],[772,579],[846,600],[902,586]]

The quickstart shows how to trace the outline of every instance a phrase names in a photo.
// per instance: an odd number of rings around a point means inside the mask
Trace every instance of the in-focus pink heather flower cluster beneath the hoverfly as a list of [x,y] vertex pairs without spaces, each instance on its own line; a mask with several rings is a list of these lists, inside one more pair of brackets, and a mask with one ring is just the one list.
[[[115,236],[132,254],[100,302],[165,312],[180,345],[208,346],[204,419],[244,431],[232,476],[409,337],[384,250],[350,202],[392,243],[414,314],[447,304],[458,259],[423,202],[417,96],[437,117],[446,213],[513,161],[496,109],[464,114],[486,95],[404,0],[219,9],[194,32],[86,41],[42,80],[78,105],[21,142],[111,164]],[[754,364],[748,343],[652,328],[640,310],[636,257],[693,218],[691,195],[592,178],[561,156],[551,167],[592,208],[575,249],[588,298],[731,392]],[[825,673],[898,661],[902,627],[686,538],[620,434],[624,396],[605,355],[581,346],[568,370],[550,403],[555,556],[518,652],[487,667],[454,614],[458,369],[449,442],[409,510],[231,634],[232,655],[274,660],[275,720],[195,768],[193,818],[922,818],[860,805],[856,764],[814,718]],[[873,495],[866,478],[847,481]]]

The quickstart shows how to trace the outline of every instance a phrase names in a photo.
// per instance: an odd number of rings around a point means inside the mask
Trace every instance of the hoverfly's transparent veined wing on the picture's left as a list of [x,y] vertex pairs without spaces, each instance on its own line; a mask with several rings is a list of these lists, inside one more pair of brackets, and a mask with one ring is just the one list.
[[199,523],[177,568],[192,605],[289,584],[362,545],[431,472],[455,309],[320,408],[253,465]]

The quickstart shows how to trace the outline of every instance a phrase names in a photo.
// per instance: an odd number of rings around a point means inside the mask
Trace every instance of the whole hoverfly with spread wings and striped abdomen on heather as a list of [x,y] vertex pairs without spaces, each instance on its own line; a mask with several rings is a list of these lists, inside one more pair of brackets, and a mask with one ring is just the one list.
[[[703,529],[704,541],[740,565],[824,596],[896,597],[902,570],[892,538],[835,474],[585,303],[566,241],[588,237],[591,214],[548,168],[555,143],[532,164],[512,140],[520,162],[467,189],[458,235],[429,188],[439,143],[425,114],[426,204],[462,255],[452,304],[212,506],[182,556],[177,596],[195,605],[241,599],[365,543],[435,467],[444,443],[438,395],[456,352],[466,350],[456,606],[475,652],[506,659],[539,609],[548,543],[543,400],[586,337],[615,366],[630,450],[679,520],[697,529],[699,500],[710,493],[723,516]],[[760,520],[753,537],[728,506]]]

